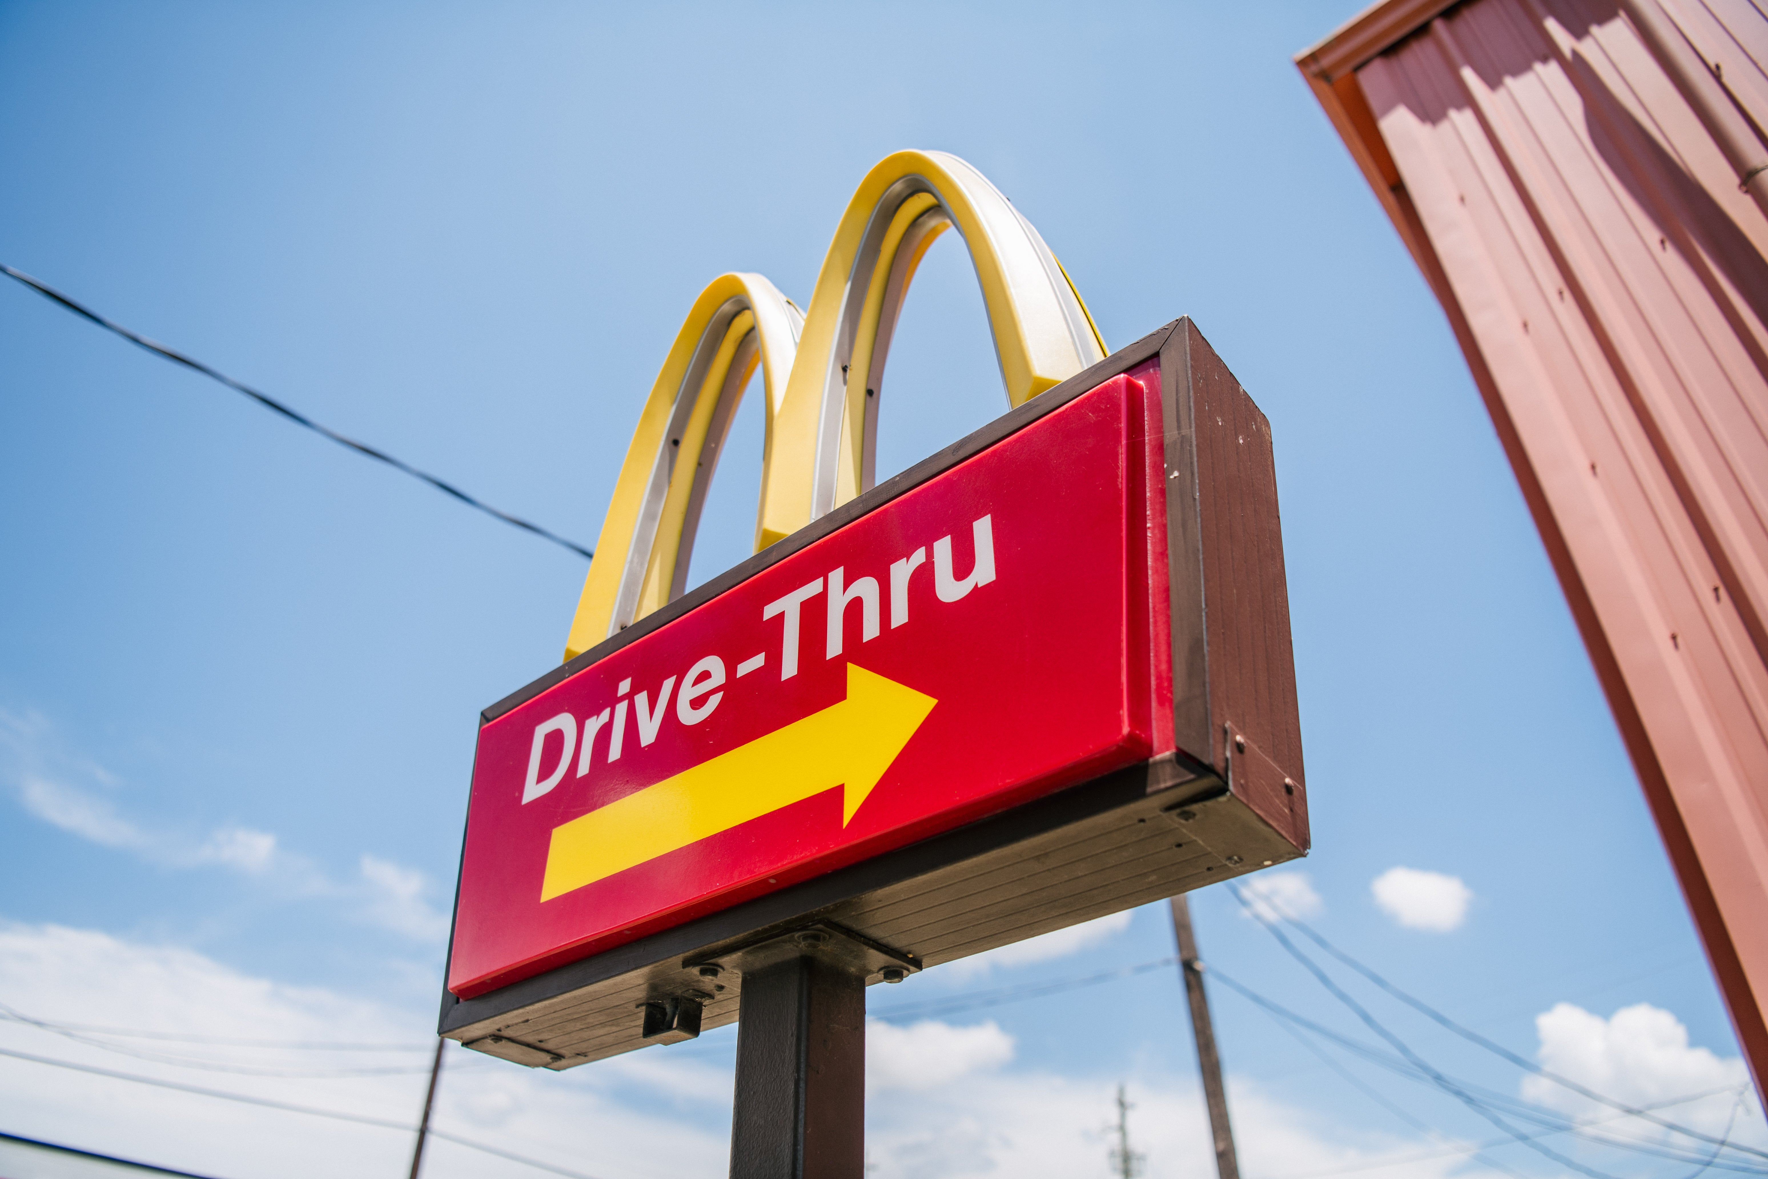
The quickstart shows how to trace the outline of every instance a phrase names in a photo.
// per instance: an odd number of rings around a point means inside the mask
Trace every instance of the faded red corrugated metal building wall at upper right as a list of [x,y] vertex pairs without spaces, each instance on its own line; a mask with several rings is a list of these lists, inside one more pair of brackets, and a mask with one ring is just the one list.
[[[1761,136],[1763,12],[1664,11]],[[1768,217],[1614,0],[1393,35],[1303,71],[1455,323],[1768,1080]]]

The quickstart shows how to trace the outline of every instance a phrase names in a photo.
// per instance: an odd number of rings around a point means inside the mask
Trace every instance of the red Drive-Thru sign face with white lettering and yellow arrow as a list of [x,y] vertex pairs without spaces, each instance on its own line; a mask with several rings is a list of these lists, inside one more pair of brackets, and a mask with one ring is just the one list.
[[1153,366],[479,730],[477,995],[1172,748]]

